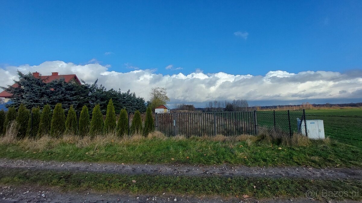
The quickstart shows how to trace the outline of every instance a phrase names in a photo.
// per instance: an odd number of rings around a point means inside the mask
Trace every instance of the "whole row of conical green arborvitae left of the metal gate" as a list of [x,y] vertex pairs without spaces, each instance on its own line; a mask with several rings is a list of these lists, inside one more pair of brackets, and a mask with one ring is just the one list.
[[136,110],[130,127],[125,108],[119,112],[117,119],[112,99],[109,100],[105,111],[104,119],[100,104],[96,104],[90,118],[88,107],[83,105],[78,119],[73,105],[70,105],[66,116],[61,103],[55,104],[52,111],[49,104],[44,105],[42,110],[33,107],[31,111],[24,104],[20,104],[17,110],[15,107],[9,107],[7,112],[0,111],[0,134],[16,129],[18,138],[35,138],[43,135],[61,137],[64,134],[81,137],[100,134],[123,136],[128,132],[147,136],[155,130],[151,108],[147,108],[144,125],[140,111]]

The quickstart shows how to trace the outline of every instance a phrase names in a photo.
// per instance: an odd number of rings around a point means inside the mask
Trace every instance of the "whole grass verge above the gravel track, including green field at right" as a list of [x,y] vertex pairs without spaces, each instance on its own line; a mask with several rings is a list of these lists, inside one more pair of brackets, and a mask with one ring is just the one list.
[[156,132],[148,138],[107,135],[17,140],[8,135],[0,138],[0,157],[130,164],[362,167],[361,116],[362,109],[307,111],[307,119],[324,120],[325,134],[330,138],[325,141],[278,138],[277,132],[262,130],[258,137],[168,138]]

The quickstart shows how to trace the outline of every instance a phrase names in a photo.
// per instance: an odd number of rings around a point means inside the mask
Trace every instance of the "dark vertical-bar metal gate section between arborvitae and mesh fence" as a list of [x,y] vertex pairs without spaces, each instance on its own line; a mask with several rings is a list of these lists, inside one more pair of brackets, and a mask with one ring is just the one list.
[[256,111],[160,113],[155,114],[155,126],[167,136],[257,135],[255,115]]

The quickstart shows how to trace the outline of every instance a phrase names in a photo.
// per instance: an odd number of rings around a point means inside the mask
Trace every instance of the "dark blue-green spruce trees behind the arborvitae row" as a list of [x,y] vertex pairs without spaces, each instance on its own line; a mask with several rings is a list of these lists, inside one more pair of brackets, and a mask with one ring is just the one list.
[[73,106],[75,111],[81,111],[83,105],[93,109],[96,105],[100,106],[101,112],[106,113],[105,109],[108,101],[113,99],[115,112],[118,114],[122,109],[127,112],[139,111],[146,112],[146,102],[142,97],[136,96],[134,92],[128,90],[110,89],[107,90],[103,85],[98,85],[98,80],[93,84],[85,83],[82,85],[74,82],[65,82],[64,78],[53,80],[46,83],[46,79],[34,77],[30,72],[23,74],[20,71],[18,81],[14,81],[19,87],[1,87],[7,92],[13,94],[12,103],[7,104],[7,108],[14,106],[16,109],[23,104],[26,108],[49,105],[55,108],[56,104],[61,103],[66,110]]

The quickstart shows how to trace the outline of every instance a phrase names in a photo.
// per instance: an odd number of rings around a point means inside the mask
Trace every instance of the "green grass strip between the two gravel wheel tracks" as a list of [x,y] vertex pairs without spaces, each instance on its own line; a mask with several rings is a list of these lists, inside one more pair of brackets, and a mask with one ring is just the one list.
[[[136,182],[133,183],[132,180]],[[0,170],[0,183],[37,184],[58,186],[64,190],[94,189],[104,192],[131,192],[133,194],[191,194],[241,197],[247,194],[254,198],[275,196],[305,197],[308,189],[318,191],[361,191],[359,180],[307,180],[302,178],[244,178],[244,177],[177,177],[153,175],[124,175],[84,172],[56,172],[52,170]],[[255,186],[255,187],[254,187]],[[361,196],[346,196],[339,199],[360,200]]]

